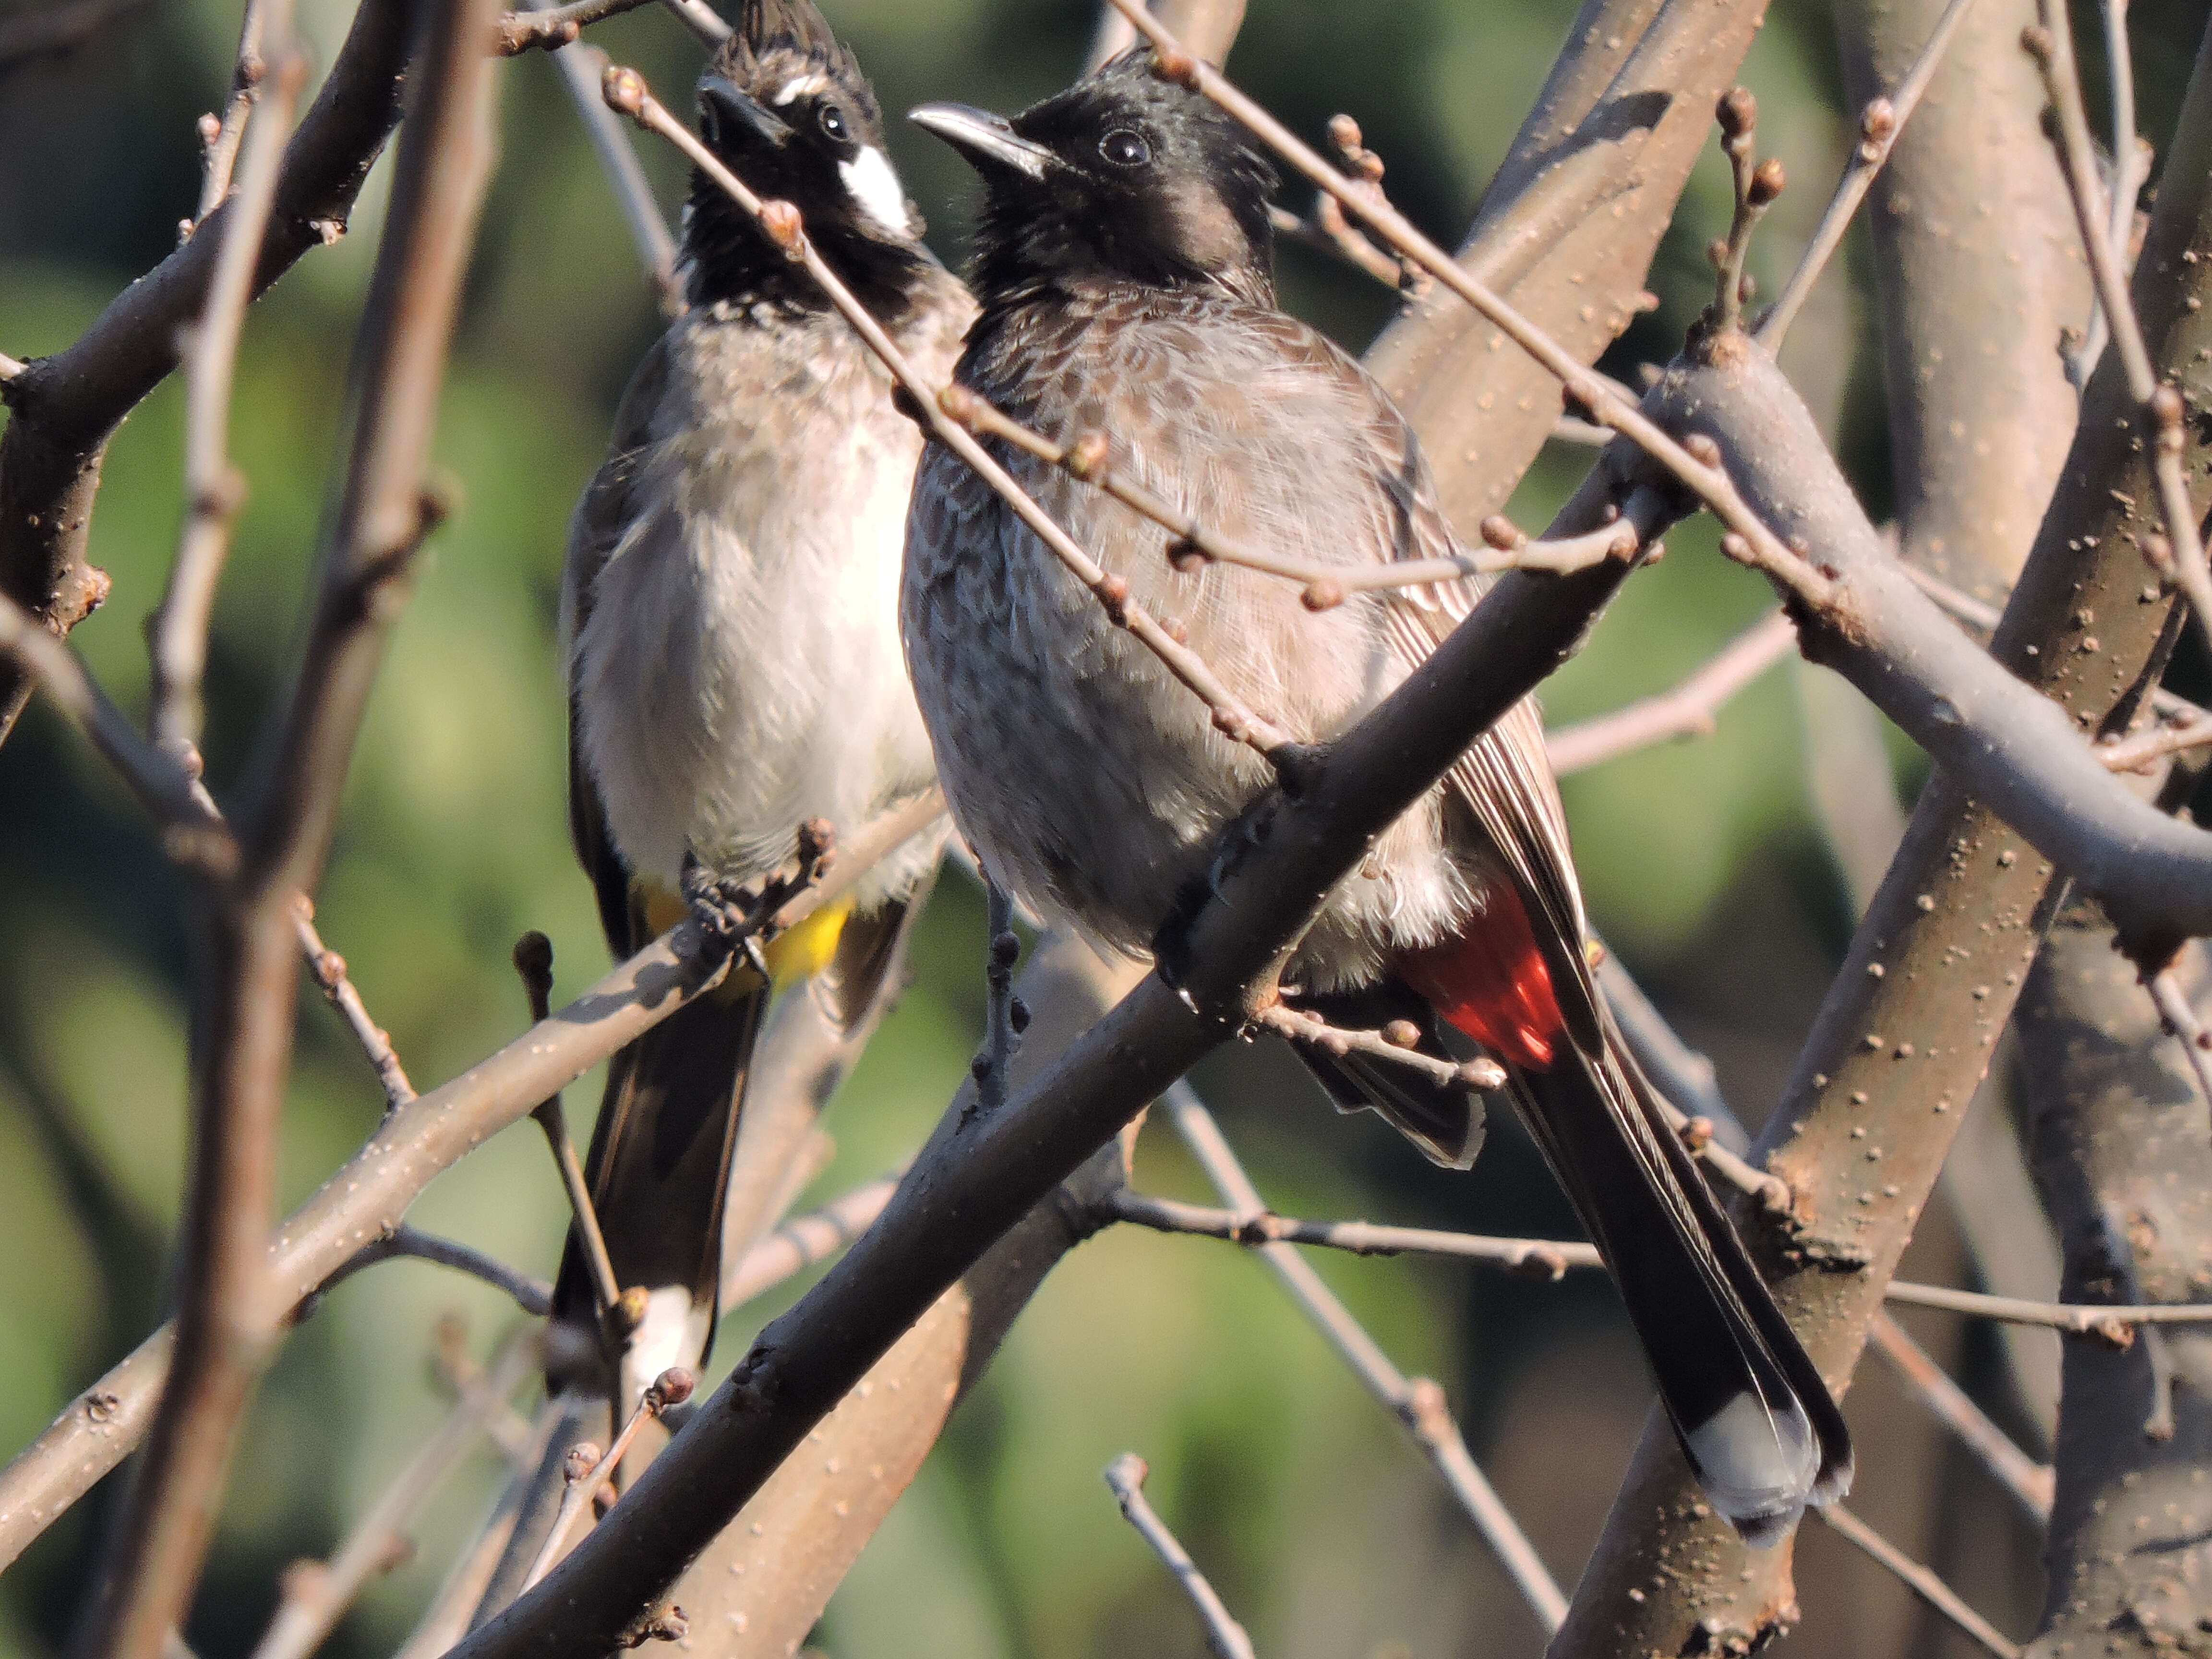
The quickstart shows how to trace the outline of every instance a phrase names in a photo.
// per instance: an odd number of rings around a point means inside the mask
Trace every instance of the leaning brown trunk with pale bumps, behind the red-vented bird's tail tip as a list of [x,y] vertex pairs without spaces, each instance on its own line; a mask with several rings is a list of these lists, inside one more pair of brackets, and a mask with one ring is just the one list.
[[[2199,60],[2135,285],[2152,356],[2192,409],[2208,394],[2197,352],[2212,347],[2212,325],[2192,310],[2212,268],[2201,257],[2212,248],[2208,80]],[[2126,719],[2172,608],[2139,551],[2157,522],[2132,414],[2119,376],[2099,374],[1995,641],[2000,661],[2086,732],[2115,712]],[[2203,511],[2201,429],[2192,445]],[[1747,1241],[1834,1387],[1858,1363],[1880,1290],[2020,995],[2048,885],[2033,849],[1938,774],[1761,1137],[1770,1168],[1796,1192],[1796,1219],[1787,1234],[1752,1221]],[[1745,1551],[1655,1422],[1553,1652],[1750,1644],[1792,1613],[1790,1551]]]

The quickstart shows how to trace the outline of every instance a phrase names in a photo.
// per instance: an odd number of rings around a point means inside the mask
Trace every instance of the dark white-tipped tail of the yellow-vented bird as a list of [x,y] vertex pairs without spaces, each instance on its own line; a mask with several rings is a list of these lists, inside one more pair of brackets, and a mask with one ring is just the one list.
[[[697,1371],[714,1340],[730,1148],[768,995],[765,987],[708,993],[608,1064],[584,1186],[615,1287],[646,1292],[624,1394],[670,1365]],[[602,1356],[591,1281],[584,1243],[571,1225],[553,1285],[553,1321],[568,1338],[553,1349],[571,1365]],[[615,1376],[604,1363],[586,1369],[595,1371],[599,1391],[615,1394]]]

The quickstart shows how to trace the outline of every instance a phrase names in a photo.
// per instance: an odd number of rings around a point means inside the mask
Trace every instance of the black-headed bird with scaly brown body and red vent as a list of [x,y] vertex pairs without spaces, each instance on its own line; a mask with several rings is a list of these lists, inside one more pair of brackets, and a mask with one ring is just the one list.
[[[1013,122],[914,119],[984,181],[956,378],[1243,544],[1358,566],[1460,551],[1420,445],[1367,372],[1274,307],[1270,164],[1214,104],[1124,55]],[[1097,453],[1095,440],[1093,456]],[[1228,690],[1305,741],[1356,723],[1478,597],[1358,593],[1192,560],[1128,507],[1006,445],[993,453]],[[1170,553],[1177,553],[1170,562]],[[1199,568],[1177,568],[1197,564]],[[962,834],[1033,907],[1170,956],[1214,847],[1272,783],[1166,666],[958,458],[931,449],[907,522],[907,657]],[[1336,1024],[1438,1022],[1506,1091],[1606,1254],[1674,1431],[1714,1506],[1778,1535],[1849,1482],[1843,1416],[1767,1296],[1588,962],[1559,794],[1520,703],[1327,898],[1285,975]],[[1360,1053],[1303,1055],[1431,1159],[1464,1166],[1480,1104]]]

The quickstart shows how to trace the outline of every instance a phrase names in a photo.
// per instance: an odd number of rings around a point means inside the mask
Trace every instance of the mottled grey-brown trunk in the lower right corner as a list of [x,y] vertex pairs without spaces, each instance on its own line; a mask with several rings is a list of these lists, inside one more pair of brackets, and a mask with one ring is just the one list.
[[[2203,951],[2181,960],[2203,1006]],[[2095,907],[2068,907],[2020,1004],[2035,1175],[2066,1301],[2212,1294],[2212,1135],[2179,1044]],[[2212,1332],[2066,1338],[2037,1659],[2212,1652]],[[2163,1433],[2163,1438],[2161,1438]]]

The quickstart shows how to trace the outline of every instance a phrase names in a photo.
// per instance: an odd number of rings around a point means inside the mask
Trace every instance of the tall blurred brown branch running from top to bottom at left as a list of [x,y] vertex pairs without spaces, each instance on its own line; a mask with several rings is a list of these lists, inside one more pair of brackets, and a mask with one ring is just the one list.
[[102,1652],[157,1659],[199,1579],[223,1471],[279,1334],[268,1283],[274,1139],[299,973],[294,894],[323,867],[383,626],[420,542],[445,347],[491,173],[493,0],[440,13],[409,75],[392,219],[363,319],[365,376],[314,624],[234,883],[208,896],[177,1356],[117,1524]]

